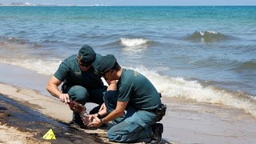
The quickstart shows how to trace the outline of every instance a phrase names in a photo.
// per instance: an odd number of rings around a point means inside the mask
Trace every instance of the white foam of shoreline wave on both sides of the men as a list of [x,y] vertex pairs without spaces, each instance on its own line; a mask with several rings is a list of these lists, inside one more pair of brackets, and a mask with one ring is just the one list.
[[[29,70],[34,70],[39,74],[54,74],[58,69],[61,59],[14,59],[8,61],[0,58],[0,62],[20,66]],[[150,79],[158,92],[163,97],[178,97],[195,100],[197,102],[217,103],[233,108],[245,110],[256,117],[256,99],[248,94],[232,92],[229,90],[218,89],[214,86],[202,86],[197,80],[186,80],[185,78],[174,78],[163,76],[157,71],[147,70],[144,66],[129,67],[136,70]]]

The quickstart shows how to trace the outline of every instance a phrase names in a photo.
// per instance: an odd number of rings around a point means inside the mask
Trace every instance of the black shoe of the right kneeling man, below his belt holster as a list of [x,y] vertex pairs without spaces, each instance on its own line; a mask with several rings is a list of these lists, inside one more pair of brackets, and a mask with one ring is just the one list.
[[163,126],[162,123],[155,123],[154,126],[152,126],[153,130],[153,138],[151,139],[151,144],[160,144],[162,142],[162,132],[163,132]]

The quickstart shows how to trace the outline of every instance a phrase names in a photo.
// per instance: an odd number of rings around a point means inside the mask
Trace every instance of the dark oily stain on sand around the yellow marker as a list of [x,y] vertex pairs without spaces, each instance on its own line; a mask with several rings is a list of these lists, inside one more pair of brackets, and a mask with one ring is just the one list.
[[[0,94],[0,121],[7,126],[17,127],[20,131],[34,134],[38,142],[51,143],[103,143],[93,135],[82,130],[70,127],[69,124],[58,122],[52,118],[23,106],[22,104]],[[42,137],[48,130],[54,131],[54,140],[45,140]]]

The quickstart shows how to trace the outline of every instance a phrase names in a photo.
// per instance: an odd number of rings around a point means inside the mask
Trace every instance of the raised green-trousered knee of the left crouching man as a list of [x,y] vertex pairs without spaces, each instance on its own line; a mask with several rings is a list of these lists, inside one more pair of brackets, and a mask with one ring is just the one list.
[[82,86],[72,86],[68,91],[68,94],[70,95],[71,100],[81,104],[85,104],[89,97],[88,90]]

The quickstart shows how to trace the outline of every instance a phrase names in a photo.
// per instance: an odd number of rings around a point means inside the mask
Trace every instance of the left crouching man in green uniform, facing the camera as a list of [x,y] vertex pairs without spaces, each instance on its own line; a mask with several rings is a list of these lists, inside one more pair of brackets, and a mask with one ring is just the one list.
[[[46,90],[65,103],[72,100],[82,105],[94,102],[101,106],[106,86],[103,85],[102,74],[95,70],[101,58],[102,56],[96,54],[90,46],[82,46],[78,54],[66,58],[60,64],[47,83]],[[62,90],[59,90],[58,86],[62,82]],[[82,119],[77,113],[73,114],[73,122],[83,126]]]

